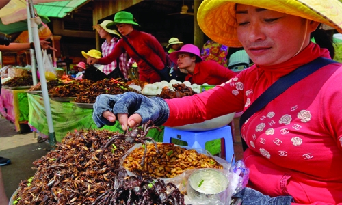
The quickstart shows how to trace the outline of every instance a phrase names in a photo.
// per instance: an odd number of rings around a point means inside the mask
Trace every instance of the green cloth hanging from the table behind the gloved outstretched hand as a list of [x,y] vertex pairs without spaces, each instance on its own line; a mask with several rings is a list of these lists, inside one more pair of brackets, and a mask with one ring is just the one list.
[[[33,130],[43,135],[48,135],[49,128],[47,126],[47,117],[42,96],[27,94],[27,99],[29,104],[29,125]],[[51,99],[49,101],[53,128],[58,142],[62,141],[68,132],[73,132],[74,130],[98,129],[92,120],[93,109],[77,107],[71,102],[57,102]],[[153,137],[155,141],[163,141],[163,126],[160,128],[162,132],[157,131],[157,129],[151,129],[148,136]],[[123,132],[119,123],[116,123],[114,126],[103,126],[101,129]]]

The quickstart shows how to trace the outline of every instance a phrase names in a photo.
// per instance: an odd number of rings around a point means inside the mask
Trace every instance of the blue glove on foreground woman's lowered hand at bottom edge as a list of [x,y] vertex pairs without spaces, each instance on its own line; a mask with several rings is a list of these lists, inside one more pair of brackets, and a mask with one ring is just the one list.
[[241,198],[242,205],[291,205],[291,196],[279,196],[279,197],[269,197],[268,195],[263,195],[257,190],[250,189],[248,187],[242,189],[239,193],[233,195],[234,198]]

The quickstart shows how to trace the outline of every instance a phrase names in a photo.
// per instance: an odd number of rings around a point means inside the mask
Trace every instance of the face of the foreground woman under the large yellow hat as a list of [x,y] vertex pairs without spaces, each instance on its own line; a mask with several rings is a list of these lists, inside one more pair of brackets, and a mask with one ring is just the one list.
[[242,4],[237,4],[236,18],[239,41],[252,61],[264,66],[285,62],[301,47],[304,49],[310,41],[310,33],[319,24],[298,16]]

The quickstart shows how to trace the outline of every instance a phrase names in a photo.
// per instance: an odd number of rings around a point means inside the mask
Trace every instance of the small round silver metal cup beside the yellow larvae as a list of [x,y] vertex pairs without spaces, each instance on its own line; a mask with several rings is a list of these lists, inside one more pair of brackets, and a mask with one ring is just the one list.
[[216,169],[198,169],[189,176],[189,197],[198,202],[225,201],[228,178]]

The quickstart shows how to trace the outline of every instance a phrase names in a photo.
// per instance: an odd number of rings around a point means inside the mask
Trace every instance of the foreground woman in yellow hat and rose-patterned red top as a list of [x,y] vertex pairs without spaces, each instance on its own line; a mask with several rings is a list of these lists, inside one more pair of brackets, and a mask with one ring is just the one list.
[[317,68],[241,123],[250,174],[248,187],[234,197],[242,204],[342,204],[342,64],[325,49],[332,46],[330,38],[317,38],[325,32],[321,23],[342,33],[341,3],[205,0],[197,17],[209,38],[244,46],[254,65],[194,96],[100,95],[93,113],[97,126],[116,119],[124,129],[148,120],[181,126],[235,111],[246,114],[280,78]]

